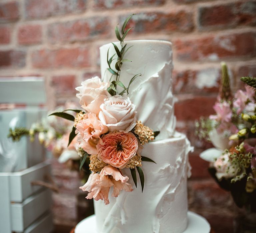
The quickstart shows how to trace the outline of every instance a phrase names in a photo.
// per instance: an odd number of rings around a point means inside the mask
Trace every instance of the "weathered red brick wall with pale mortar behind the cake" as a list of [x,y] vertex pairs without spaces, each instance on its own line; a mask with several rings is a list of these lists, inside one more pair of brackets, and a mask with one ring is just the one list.
[[[116,41],[114,27],[132,13],[127,39],[173,43],[177,128],[195,146],[190,209],[216,232],[231,232],[235,208],[198,157],[211,144],[194,136],[194,120],[213,113],[220,61],[229,66],[233,91],[241,87],[239,77],[256,76],[255,0],[1,0],[0,76],[44,76],[50,108],[76,100],[74,88],[99,75],[99,46]],[[79,175],[57,162],[53,168],[61,186],[55,222],[74,225]]]

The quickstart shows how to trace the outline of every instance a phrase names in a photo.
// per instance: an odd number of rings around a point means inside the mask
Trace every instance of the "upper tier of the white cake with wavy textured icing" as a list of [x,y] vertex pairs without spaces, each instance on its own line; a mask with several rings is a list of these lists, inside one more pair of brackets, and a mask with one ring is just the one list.
[[[121,48],[120,42],[115,42]],[[136,105],[137,119],[160,131],[157,140],[171,137],[175,130],[174,97],[172,95],[172,44],[160,40],[126,41],[126,48],[132,46],[124,59],[120,81],[128,87],[134,75],[141,74],[131,84],[129,97]],[[107,70],[107,52],[109,58],[116,54],[114,46],[109,43],[100,47],[101,78],[109,82],[112,74]],[[115,57],[117,59],[117,55]],[[111,63],[113,70],[117,60]],[[111,81],[115,80],[113,76]],[[118,91],[122,89],[117,89]]]

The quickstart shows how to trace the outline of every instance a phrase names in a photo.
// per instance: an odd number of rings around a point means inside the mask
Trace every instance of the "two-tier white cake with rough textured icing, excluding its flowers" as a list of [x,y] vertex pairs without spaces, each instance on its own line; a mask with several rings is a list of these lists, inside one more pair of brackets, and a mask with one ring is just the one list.
[[[145,176],[143,193],[140,182],[134,191],[109,197],[110,204],[94,201],[97,231],[99,233],[181,233],[187,227],[188,152],[191,146],[186,136],[175,132],[174,98],[172,95],[172,44],[168,41],[127,41],[120,81],[128,86],[130,79],[141,74],[132,83],[129,97],[136,105],[137,119],[160,131],[153,142],[143,145],[142,156],[156,162],[142,162]],[[115,43],[120,48],[120,43]],[[111,43],[100,47],[102,81],[109,82],[107,51],[115,54]],[[115,62],[113,62],[115,64]],[[112,64],[112,66],[113,66]],[[137,177],[138,178],[138,177]]]

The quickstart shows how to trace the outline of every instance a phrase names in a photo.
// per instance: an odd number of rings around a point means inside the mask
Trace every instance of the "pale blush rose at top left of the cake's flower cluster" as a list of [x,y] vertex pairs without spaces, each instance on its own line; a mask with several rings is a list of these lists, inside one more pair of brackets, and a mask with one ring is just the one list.
[[101,82],[100,78],[96,76],[83,81],[81,85],[76,88],[80,92],[76,94],[76,97],[80,99],[79,104],[86,111],[98,115],[100,105],[104,103],[104,99],[110,96],[107,92],[108,83]]

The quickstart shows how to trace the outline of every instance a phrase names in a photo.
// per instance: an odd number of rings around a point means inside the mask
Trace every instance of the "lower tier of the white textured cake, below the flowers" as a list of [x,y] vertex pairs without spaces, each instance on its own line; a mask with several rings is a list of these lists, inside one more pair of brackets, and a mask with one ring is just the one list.
[[[145,177],[143,193],[139,175],[137,188],[129,169],[123,173],[133,185],[132,192],[109,195],[110,204],[94,201],[98,233],[181,233],[187,227],[188,152],[186,136],[156,140],[143,146],[141,155],[156,162],[142,162]],[[111,190],[110,190],[110,193]]]

